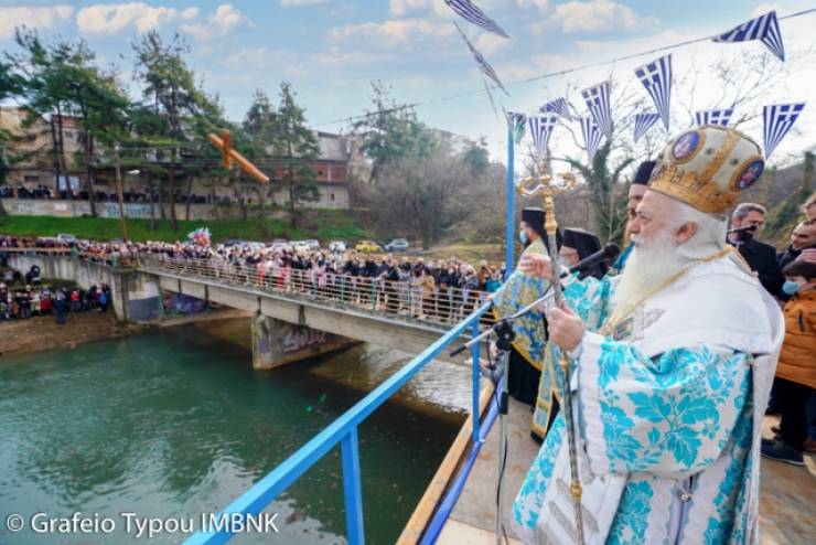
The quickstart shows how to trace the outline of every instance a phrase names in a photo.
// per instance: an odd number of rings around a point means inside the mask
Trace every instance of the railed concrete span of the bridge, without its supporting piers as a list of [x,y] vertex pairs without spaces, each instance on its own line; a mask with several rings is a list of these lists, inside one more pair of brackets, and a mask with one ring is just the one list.
[[402,282],[337,277],[321,285],[305,271],[291,271],[280,281],[249,267],[215,267],[194,260],[148,257],[140,258],[138,268],[155,277],[164,291],[409,353],[422,352],[450,329],[451,320],[458,321],[485,297],[451,290],[441,298],[429,293],[416,300],[416,292]]

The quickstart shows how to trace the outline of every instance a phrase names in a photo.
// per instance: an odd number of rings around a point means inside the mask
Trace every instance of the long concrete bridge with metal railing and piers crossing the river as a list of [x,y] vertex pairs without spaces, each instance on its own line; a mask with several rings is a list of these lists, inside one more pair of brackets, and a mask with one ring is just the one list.
[[[277,350],[281,340],[304,335],[314,338],[311,344],[315,350],[316,345],[341,348],[340,341],[344,340],[345,345],[359,341],[420,353],[487,297],[476,290],[430,290],[410,282],[318,277],[305,270],[266,271],[153,255],[103,259],[40,248],[10,249],[6,255],[9,265],[22,272],[37,265],[42,277],[73,280],[85,289],[93,284],[109,285],[114,309],[121,320],[160,320],[163,291],[248,311],[259,332],[254,338],[261,339],[254,353]],[[490,318],[484,321],[490,323]],[[283,330],[287,332],[281,333]],[[309,356],[322,352],[300,353]],[[452,361],[462,363],[465,357]],[[440,359],[451,361],[447,353]],[[294,360],[293,354],[278,353],[260,364],[254,356],[254,364],[269,368]]]

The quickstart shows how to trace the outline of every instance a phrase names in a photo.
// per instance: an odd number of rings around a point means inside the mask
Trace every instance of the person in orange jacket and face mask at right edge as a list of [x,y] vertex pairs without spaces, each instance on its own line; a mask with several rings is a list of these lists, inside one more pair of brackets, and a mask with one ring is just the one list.
[[785,341],[774,378],[782,420],[774,439],[762,440],[762,456],[795,466],[803,453],[816,453],[816,437],[808,437],[806,406],[816,392],[816,263],[796,259],[783,271]]

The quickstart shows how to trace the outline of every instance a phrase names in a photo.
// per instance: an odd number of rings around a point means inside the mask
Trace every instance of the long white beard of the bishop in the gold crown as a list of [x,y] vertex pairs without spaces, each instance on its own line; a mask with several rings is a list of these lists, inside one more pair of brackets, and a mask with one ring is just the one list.
[[[637,242],[638,237],[634,235],[632,241]],[[632,248],[612,293],[613,309],[637,304],[642,298],[694,261],[678,249],[679,245],[669,229],[663,229],[653,241],[640,242]]]

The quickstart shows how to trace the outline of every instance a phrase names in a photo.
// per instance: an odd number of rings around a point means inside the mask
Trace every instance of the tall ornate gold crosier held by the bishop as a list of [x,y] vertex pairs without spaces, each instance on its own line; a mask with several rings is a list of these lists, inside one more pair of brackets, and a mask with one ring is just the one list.
[[[558,263],[558,246],[556,243],[556,233],[558,231],[558,222],[556,221],[556,206],[552,196],[562,193],[567,190],[575,189],[577,180],[571,173],[560,174],[562,182],[556,183],[551,175],[546,173],[546,168],[543,169],[545,172],[539,178],[525,178],[518,184],[518,191],[526,197],[540,195],[544,197],[544,229],[547,233],[547,242],[550,258],[550,265],[552,267],[552,290],[555,296],[555,303],[558,308],[563,303],[563,290],[561,286],[561,268]],[[532,186],[534,184],[537,185]],[[569,436],[569,467],[570,477],[572,483],[570,485],[570,493],[572,494],[572,501],[576,509],[576,531],[578,536],[578,543],[583,545],[583,514],[581,512],[581,480],[578,474],[578,448],[576,446],[576,424],[572,416],[572,393],[569,387],[569,359],[563,351],[558,351],[558,362],[562,374],[562,387],[561,387],[561,399],[563,399],[563,420],[567,425],[567,435]]]

